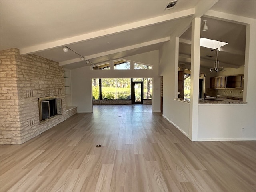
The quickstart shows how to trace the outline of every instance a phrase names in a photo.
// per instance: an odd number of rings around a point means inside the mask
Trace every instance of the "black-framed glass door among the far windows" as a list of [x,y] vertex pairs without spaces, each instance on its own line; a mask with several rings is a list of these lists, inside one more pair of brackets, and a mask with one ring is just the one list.
[[132,81],[131,99],[132,104],[143,104],[143,81]]

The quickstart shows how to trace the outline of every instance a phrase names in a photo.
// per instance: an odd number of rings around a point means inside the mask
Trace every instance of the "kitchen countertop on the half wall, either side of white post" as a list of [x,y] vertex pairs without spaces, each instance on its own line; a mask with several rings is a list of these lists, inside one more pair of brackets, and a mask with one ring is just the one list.
[[[175,100],[180,100],[184,102],[190,103],[190,99],[182,99],[182,98],[174,98]],[[227,103],[233,103],[233,104],[241,104],[241,103],[247,103],[240,100],[234,100],[234,99],[226,99],[226,98],[216,98],[216,97],[209,97],[207,96],[206,99],[199,99],[199,104],[227,104]]]

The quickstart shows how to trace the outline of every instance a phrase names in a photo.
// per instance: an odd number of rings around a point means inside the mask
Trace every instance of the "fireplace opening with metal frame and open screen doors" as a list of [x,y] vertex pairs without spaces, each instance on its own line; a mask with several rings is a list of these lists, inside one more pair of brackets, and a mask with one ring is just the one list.
[[40,124],[55,117],[62,115],[62,100],[57,96],[38,98]]

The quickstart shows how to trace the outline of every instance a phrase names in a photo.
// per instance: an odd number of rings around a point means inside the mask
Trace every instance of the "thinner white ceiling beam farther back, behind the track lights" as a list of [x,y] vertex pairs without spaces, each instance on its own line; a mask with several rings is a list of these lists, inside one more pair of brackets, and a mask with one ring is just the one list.
[[[158,43],[166,42],[166,41],[169,41],[169,40],[170,40],[170,37],[161,38],[161,39],[152,40],[152,41],[148,41],[148,42],[144,42],[144,43],[140,43],[140,44],[136,44],[136,45],[122,47],[122,48],[119,48],[119,49],[114,49],[114,50],[110,50],[110,51],[106,51],[106,52],[101,52],[101,53],[97,53],[97,54],[93,54],[93,55],[84,56],[84,58],[86,60],[90,60],[90,59],[93,59],[93,58],[107,56],[107,55],[110,55],[110,54],[115,54],[115,53],[119,53],[119,52],[123,52],[123,51],[127,51],[127,50],[141,48],[141,47],[145,47],[145,46],[149,46],[149,45],[153,45],[153,44],[158,44]],[[80,57],[75,58],[75,59],[71,59],[71,60],[66,60],[66,61],[60,62],[59,66],[63,66],[63,65],[67,65],[67,64],[71,64],[71,63],[75,63],[75,62],[80,62],[80,61],[81,61]]]

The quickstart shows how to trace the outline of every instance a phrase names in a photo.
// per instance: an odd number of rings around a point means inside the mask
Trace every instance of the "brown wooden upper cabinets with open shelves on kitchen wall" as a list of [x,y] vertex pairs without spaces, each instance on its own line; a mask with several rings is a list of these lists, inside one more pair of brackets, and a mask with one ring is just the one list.
[[244,75],[211,77],[210,88],[225,89],[225,88],[243,88]]

